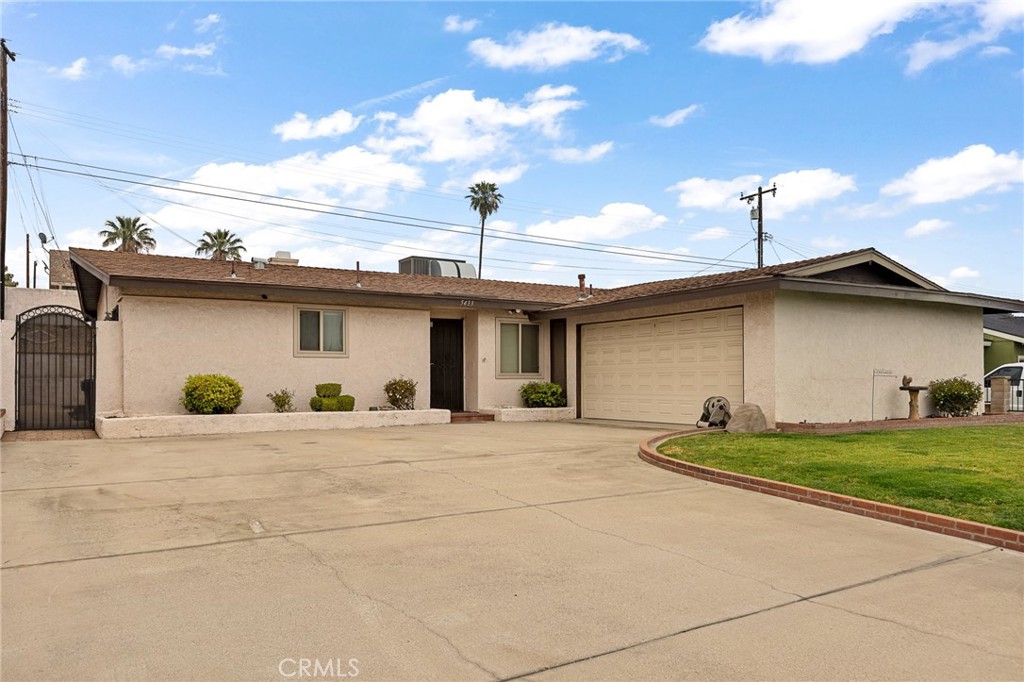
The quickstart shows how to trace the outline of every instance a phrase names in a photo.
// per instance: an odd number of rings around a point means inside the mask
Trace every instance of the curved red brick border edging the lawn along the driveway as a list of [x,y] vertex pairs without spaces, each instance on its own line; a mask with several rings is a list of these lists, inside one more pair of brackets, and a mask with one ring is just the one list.
[[1024,552],[1024,532],[1020,530],[1000,528],[998,526],[977,523],[975,521],[965,521],[950,516],[943,516],[942,514],[932,514],[929,512],[918,511],[915,509],[907,509],[906,507],[887,505],[882,502],[851,498],[846,495],[839,495],[838,493],[825,493],[824,491],[816,491],[813,487],[804,487],[803,485],[794,485],[792,483],[781,483],[777,480],[770,480],[768,478],[758,478],[757,476],[748,476],[745,474],[732,473],[731,471],[722,471],[721,469],[703,467],[698,464],[691,464],[682,460],[674,460],[671,457],[666,457],[657,452],[657,446],[670,438],[685,435],[716,433],[720,431],[721,429],[677,431],[675,433],[666,433],[655,436],[640,443],[639,456],[641,460],[647,462],[648,464],[653,464],[655,467],[660,467],[669,471],[674,471],[675,473],[681,473],[694,478],[699,478],[700,480],[707,480],[712,483],[721,483],[722,485],[731,485],[732,487],[739,487],[744,491],[755,491],[757,493],[764,493],[765,495],[774,495],[775,497],[785,498],[786,500],[793,500],[795,502],[803,502],[805,504],[815,505],[818,507],[826,507],[827,509],[835,509],[849,514],[867,516],[868,518],[877,518],[891,523],[909,525],[914,528],[921,528],[922,530],[940,532],[944,536],[973,540],[975,542],[985,543],[986,545],[995,545],[996,547],[1002,547],[1016,552]]

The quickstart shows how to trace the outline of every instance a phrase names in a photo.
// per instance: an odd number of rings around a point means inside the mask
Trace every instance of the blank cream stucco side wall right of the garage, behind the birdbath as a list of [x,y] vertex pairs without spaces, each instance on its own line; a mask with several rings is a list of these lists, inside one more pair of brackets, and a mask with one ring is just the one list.
[[[914,385],[982,377],[978,308],[779,292],[775,297],[775,419],[905,418]],[[932,411],[922,393],[922,415]]]

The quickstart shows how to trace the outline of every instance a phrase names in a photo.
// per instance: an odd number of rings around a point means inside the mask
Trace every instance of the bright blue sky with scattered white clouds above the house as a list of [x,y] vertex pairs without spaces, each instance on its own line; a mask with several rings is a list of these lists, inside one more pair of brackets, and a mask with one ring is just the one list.
[[739,197],[774,182],[767,264],[873,246],[1024,298],[1022,22],[1011,0],[4,2],[11,151],[58,169],[12,167],[8,265],[24,284],[26,233],[43,259],[38,232],[98,247],[115,215],[162,254],[225,227],[307,265],[475,264],[464,196],[488,180],[484,276],[611,287],[753,264]]

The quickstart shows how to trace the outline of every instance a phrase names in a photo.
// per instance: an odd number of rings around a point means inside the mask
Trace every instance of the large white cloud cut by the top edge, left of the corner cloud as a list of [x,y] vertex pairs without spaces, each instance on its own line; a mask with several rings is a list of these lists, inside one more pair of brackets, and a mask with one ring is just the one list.
[[858,52],[928,8],[920,0],[763,2],[759,15],[740,13],[712,24],[699,46],[764,61],[827,63]]

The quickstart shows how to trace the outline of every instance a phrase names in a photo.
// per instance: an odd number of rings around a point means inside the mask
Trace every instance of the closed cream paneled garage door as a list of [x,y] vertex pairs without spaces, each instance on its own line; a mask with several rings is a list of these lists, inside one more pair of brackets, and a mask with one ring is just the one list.
[[743,398],[743,310],[585,325],[583,416],[694,423],[706,398]]

